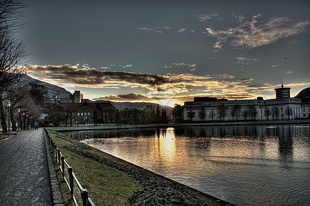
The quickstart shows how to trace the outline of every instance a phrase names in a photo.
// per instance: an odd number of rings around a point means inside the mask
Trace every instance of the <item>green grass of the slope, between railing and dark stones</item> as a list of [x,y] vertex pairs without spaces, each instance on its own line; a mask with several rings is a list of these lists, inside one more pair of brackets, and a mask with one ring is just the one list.
[[[120,170],[110,168],[107,165],[65,150],[63,147],[69,146],[71,142],[58,138],[61,134],[49,130],[49,135],[54,139],[55,144],[60,149],[67,163],[73,168],[73,172],[82,187],[86,188],[89,192],[89,197],[93,203],[96,205],[129,205],[129,198],[135,190],[140,188],[140,185],[137,185],[134,179]],[[96,149],[89,149],[88,151],[101,157],[105,156],[104,153]],[[62,185],[64,183],[62,181]],[[80,194],[77,191],[78,187],[76,185],[74,187],[75,196],[80,201]],[[65,187],[63,189],[68,190]],[[62,195],[65,203],[70,205],[69,193],[63,191]]]

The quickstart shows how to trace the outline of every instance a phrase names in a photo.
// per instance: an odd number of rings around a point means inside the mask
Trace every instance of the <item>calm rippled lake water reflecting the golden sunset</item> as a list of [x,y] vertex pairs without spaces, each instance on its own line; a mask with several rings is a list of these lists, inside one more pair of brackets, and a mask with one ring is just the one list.
[[236,205],[310,205],[310,125],[67,134]]

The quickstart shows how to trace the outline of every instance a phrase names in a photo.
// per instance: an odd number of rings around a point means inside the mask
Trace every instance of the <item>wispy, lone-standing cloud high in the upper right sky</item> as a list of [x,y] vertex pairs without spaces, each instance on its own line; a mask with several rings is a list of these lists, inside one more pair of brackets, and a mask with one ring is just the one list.
[[226,30],[212,30],[206,28],[206,34],[217,38],[214,52],[234,47],[236,49],[253,49],[263,45],[275,43],[281,38],[300,34],[310,24],[310,21],[292,22],[287,17],[273,17],[264,19],[258,14],[252,21],[239,18],[238,26]]

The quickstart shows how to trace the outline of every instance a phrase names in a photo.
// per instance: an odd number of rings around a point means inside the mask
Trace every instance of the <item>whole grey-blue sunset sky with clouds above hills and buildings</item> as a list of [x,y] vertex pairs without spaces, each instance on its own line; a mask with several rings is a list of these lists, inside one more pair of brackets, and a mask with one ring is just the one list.
[[173,106],[310,87],[310,1],[25,1],[27,74],[90,100]]

